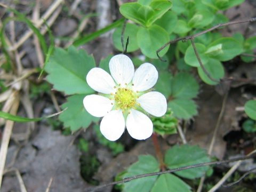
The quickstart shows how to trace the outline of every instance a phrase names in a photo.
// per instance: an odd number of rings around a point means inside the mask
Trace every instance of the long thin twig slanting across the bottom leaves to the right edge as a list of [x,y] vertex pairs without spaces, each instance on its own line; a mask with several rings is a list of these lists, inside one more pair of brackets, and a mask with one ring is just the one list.
[[186,170],[186,169],[191,169],[191,168],[196,168],[196,167],[201,167],[201,166],[209,166],[209,165],[220,165],[223,163],[230,163],[230,162],[236,162],[236,161],[243,161],[245,159],[250,159],[253,158],[256,154],[252,153],[249,156],[244,156],[244,157],[239,157],[239,158],[234,158],[234,159],[228,159],[228,160],[223,160],[223,161],[217,161],[217,162],[210,162],[210,163],[201,163],[201,164],[196,164],[196,165],[190,165],[190,166],[185,166],[185,167],[179,167],[176,169],[171,169],[171,170],[167,170],[167,171],[160,171],[160,172],[154,172],[154,173],[147,173],[147,174],[141,174],[141,175],[135,175],[133,177],[129,177],[129,178],[125,178],[123,180],[119,180],[119,181],[115,181],[115,182],[110,182],[110,183],[106,183],[97,187],[92,187],[89,189],[85,189],[81,192],[89,192],[89,191],[93,191],[93,190],[97,190],[103,187],[107,187],[107,186],[111,186],[111,185],[116,185],[119,183],[124,183],[124,182],[129,182],[132,181],[134,179],[139,179],[139,178],[143,178],[143,177],[149,177],[149,176],[154,176],[154,175],[161,175],[161,174],[166,174],[166,173],[173,173],[176,171],[181,171],[181,170]]

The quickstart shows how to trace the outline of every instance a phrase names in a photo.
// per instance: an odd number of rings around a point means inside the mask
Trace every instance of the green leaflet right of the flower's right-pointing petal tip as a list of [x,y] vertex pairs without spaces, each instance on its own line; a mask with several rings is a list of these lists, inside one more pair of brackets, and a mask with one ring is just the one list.
[[190,119],[197,115],[196,104],[190,99],[173,99],[168,102],[168,107],[173,111],[173,116],[179,119]]

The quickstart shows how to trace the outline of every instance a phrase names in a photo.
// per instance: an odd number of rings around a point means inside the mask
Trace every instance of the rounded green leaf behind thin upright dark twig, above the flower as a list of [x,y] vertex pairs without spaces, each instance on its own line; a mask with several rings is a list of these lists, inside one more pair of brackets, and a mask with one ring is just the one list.
[[[116,28],[116,30],[113,33],[113,43],[116,49],[124,52],[122,42],[121,42],[122,30],[123,30],[123,26],[119,26]],[[129,37],[129,44],[127,46],[128,53],[139,49],[139,46],[137,44],[138,30],[139,30],[139,26],[132,23],[126,23],[123,39],[124,39],[124,47],[125,47],[127,37]]]

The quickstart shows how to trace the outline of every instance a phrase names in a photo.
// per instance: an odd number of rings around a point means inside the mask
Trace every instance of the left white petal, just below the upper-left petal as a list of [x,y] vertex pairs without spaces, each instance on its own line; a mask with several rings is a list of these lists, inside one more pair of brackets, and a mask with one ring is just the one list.
[[110,99],[101,95],[87,95],[84,100],[84,108],[94,117],[105,116],[112,108]]

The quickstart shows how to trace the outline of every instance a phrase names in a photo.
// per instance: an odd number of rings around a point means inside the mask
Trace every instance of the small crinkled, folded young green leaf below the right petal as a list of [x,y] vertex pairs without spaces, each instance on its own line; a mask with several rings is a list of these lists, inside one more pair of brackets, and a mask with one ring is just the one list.
[[177,133],[177,126],[179,121],[172,116],[171,109],[167,109],[162,117],[152,117],[151,121],[154,125],[154,131],[158,134],[174,134]]

